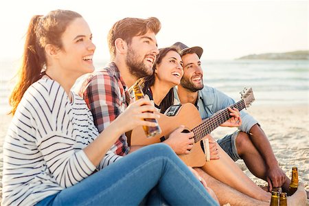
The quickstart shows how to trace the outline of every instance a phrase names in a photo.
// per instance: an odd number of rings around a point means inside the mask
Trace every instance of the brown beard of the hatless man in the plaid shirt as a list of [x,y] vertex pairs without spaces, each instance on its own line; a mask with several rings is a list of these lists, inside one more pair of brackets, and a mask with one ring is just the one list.
[[126,65],[130,73],[137,78],[144,78],[153,73],[152,68],[148,69],[144,64],[144,60],[139,61],[139,56],[137,56],[135,50],[130,47],[128,48],[128,55],[126,56]]

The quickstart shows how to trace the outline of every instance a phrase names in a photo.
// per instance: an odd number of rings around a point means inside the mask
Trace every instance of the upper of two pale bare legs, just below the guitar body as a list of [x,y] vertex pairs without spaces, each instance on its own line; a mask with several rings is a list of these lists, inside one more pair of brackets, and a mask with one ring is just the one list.
[[260,201],[269,201],[271,194],[262,190],[238,168],[238,165],[217,144],[220,159],[207,161],[202,170],[218,181]]

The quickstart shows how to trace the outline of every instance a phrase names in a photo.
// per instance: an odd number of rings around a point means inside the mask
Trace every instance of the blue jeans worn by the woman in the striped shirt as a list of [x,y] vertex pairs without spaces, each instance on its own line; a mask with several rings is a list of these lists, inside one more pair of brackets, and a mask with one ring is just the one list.
[[141,148],[37,205],[139,205],[153,187],[170,205],[218,205],[165,144]]

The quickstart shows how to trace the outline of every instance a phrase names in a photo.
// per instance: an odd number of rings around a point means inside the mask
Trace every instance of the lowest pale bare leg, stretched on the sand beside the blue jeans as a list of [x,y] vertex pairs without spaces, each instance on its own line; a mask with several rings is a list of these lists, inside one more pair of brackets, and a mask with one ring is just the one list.
[[269,205],[271,197],[268,198],[268,201],[258,201],[254,198],[251,198],[238,190],[221,183],[220,181],[214,179],[212,176],[209,176],[206,172],[200,168],[194,168],[198,174],[205,179],[207,185],[215,192],[216,196],[219,199],[220,205],[229,203],[230,205]]

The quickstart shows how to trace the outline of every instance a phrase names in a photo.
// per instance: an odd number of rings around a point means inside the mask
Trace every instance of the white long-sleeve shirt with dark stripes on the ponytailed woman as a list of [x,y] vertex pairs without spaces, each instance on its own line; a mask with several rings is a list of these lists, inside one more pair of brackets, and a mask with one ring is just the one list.
[[[2,205],[34,205],[91,175],[82,150],[98,129],[87,104],[58,82],[43,78],[27,89],[3,144]],[[118,157],[111,151],[98,169]]]

